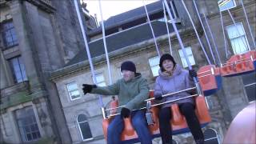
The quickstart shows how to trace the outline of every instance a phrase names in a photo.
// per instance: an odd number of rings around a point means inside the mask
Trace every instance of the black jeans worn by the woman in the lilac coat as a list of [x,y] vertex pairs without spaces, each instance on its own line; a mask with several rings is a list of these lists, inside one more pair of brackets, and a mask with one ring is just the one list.
[[[194,105],[192,103],[182,103],[178,105],[179,110],[185,116],[187,125],[194,137],[194,140],[198,143],[202,143],[204,136],[202,134],[201,126],[198,121],[198,117],[194,113]],[[172,128],[170,126],[171,109],[166,107],[159,112],[159,127],[163,144],[172,143]]]

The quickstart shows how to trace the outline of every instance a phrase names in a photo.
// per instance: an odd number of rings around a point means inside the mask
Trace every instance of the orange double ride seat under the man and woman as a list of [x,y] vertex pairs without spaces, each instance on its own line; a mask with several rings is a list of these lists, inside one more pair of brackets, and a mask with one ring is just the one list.
[[[154,97],[154,91],[150,91],[150,98]],[[154,102],[152,101],[152,104]],[[206,106],[205,98],[204,96],[198,96],[195,98],[195,113],[198,116],[198,120],[201,123],[202,126],[206,126],[211,121],[210,114],[208,111],[208,108]],[[174,104],[171,106],[172,109],[172,119],[170,120],[170,124],[172,126],[172,129],[174,131],[173,134],[180,134],[189,131],[188,126],[186,124],[186,118],[180,113],[178,109],[178,105]],[[153,135],[153,137],[159,137],[159,121],[158,121],[158,111],[159,108],[157,106],[153,106],[151,108],[152,112],[152,118],[154,120],[153,125],[149,125],[150,133]],[[104,132],[104,136],[106,138],[107,134],[107,127],[109,126],[112,118],[106,118],[102,121],[102,128]],[[130,118],[124,118],[124,130],[121,134],[121,140],[122,142],[126,141],[133,141],[138,142],[138,135],[136,134],[136,131],[134,130],[131,119]]]

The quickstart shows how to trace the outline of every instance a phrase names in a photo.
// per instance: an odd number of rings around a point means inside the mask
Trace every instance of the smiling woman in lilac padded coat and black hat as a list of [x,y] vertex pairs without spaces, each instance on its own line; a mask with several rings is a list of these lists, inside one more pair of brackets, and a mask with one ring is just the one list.
[[[169,94],[180,90],[185,90],[194,86],[193,77],[196,77],[194,70],[183,70],[174,61],[170,54],[163,54],[159,62],[159,76],[154,86],[154,98],[166,102],[177,98],[189,96],[191,91],[170,95],[162,98],[162,94]],[[185,116],[186,122],[197,144],[204,142],[202,130],[197,116],[194,113],[194,98],[185,98],[176,102],[162,105],[159,112],[159,125],[162,143],[172,143],[172,129],[170,126],[171,109],[170,106],[177,103],[179,110]]]

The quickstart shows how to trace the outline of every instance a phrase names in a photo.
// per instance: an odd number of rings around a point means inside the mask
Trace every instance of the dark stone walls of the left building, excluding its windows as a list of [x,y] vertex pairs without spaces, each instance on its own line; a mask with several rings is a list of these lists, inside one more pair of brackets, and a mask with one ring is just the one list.
[[[6,49],[0,36],[0,117],[10,118],[6,116],[13,113],[10,109],[12,111],[16,106],[22,109],[24,103],[30,102],[38,111],[38,123],[42,125],[38,142],[70,143],[57,89],[48,77],[83,47],[73,1],[4,1],[0,14],[1,24],[7,19],[14,23],[18,38],[18,46]],[[8,59],[19,55],[28,80],[15,83]],[[12,121],[15,122],[15,118]],[[8,128],[10,123],[4,119],[2,126]],[[3,142],[21,142],[19,132],[14,131],[17,129],[13,128],[7,135],[2,130]]]

